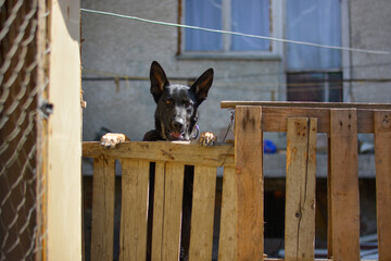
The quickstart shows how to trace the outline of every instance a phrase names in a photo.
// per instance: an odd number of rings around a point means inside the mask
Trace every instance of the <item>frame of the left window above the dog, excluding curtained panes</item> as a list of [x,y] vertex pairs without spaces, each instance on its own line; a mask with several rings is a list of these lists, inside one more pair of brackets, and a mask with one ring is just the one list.
[[[185,24],[185,1],[178,0],[178,21]],[[282,38],[282,21],[285,12],[285,1],[269,0],[269,37]],[[223,29],[230,28],[230,0],[222,0],[223,8]],[[226,18],[228,17],[228,18]],[[260,51],[232,51],[230,50],[231,35],[223,35],[222,51],[187,51],[185,49],[185,28],[178,28],[178,59],[213,59],[213,60],[281,60],[283,54],[283,44],[270,41],[269,50]]]

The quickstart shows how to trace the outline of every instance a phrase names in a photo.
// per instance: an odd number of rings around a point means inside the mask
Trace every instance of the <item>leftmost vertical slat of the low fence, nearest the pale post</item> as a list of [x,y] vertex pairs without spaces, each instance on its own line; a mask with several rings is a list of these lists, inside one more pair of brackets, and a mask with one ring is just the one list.
[[93,159],[91,260],[113,260],[114,159]]

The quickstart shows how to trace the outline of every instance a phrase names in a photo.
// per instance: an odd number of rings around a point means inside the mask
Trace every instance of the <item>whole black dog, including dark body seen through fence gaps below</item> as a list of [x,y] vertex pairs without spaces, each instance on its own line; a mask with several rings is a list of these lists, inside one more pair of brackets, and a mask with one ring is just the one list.
[[[152,62],[150,70],[151,94],[156,102],[154,114],[155,128],[146,133],[144,141],[156,140],[192,140],[198,137],[199,128],[198,109],[206,99],[213,82],[213,69],[206,70],[191,87],[185,85],[171,85],[164,70],[157,62]],[[200,144],[213,146],[216,141],[213,133],[203,133]],[[114,148],[122,141],[129,140],[123,134],[106,134],[101,139],[105,148]],[[154,163],[151,163],[150,195],[154,187]],[[187,260],[190,246],[190,223],[192,204],[193,167],[185,167],[184,200],[182,200],[182,228],[180,244],[180,260]],[[149,197],[149,206],[153,206],[153,197]],[[151,253],[152,216],[153,208],[149,208],[148,225],[148,260]]]

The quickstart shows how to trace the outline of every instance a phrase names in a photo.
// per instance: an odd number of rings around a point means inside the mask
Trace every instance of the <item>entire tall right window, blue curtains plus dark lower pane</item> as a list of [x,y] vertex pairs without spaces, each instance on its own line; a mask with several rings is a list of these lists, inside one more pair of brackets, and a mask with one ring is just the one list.
[[[341,46],[340,0],[287,1],[287,38]],[[341,51],[288,44],[287,98],[342,101]]]

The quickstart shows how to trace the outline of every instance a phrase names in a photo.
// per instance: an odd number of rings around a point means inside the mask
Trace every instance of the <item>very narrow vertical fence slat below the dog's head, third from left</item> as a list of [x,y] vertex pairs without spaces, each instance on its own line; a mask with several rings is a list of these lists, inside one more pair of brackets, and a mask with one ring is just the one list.
[[155,181],[153,195],[153,228],[152,228],[152,261],[162,260],[163,216],[164,216],[164,179],[165,163],[157,161],[155,164]]

